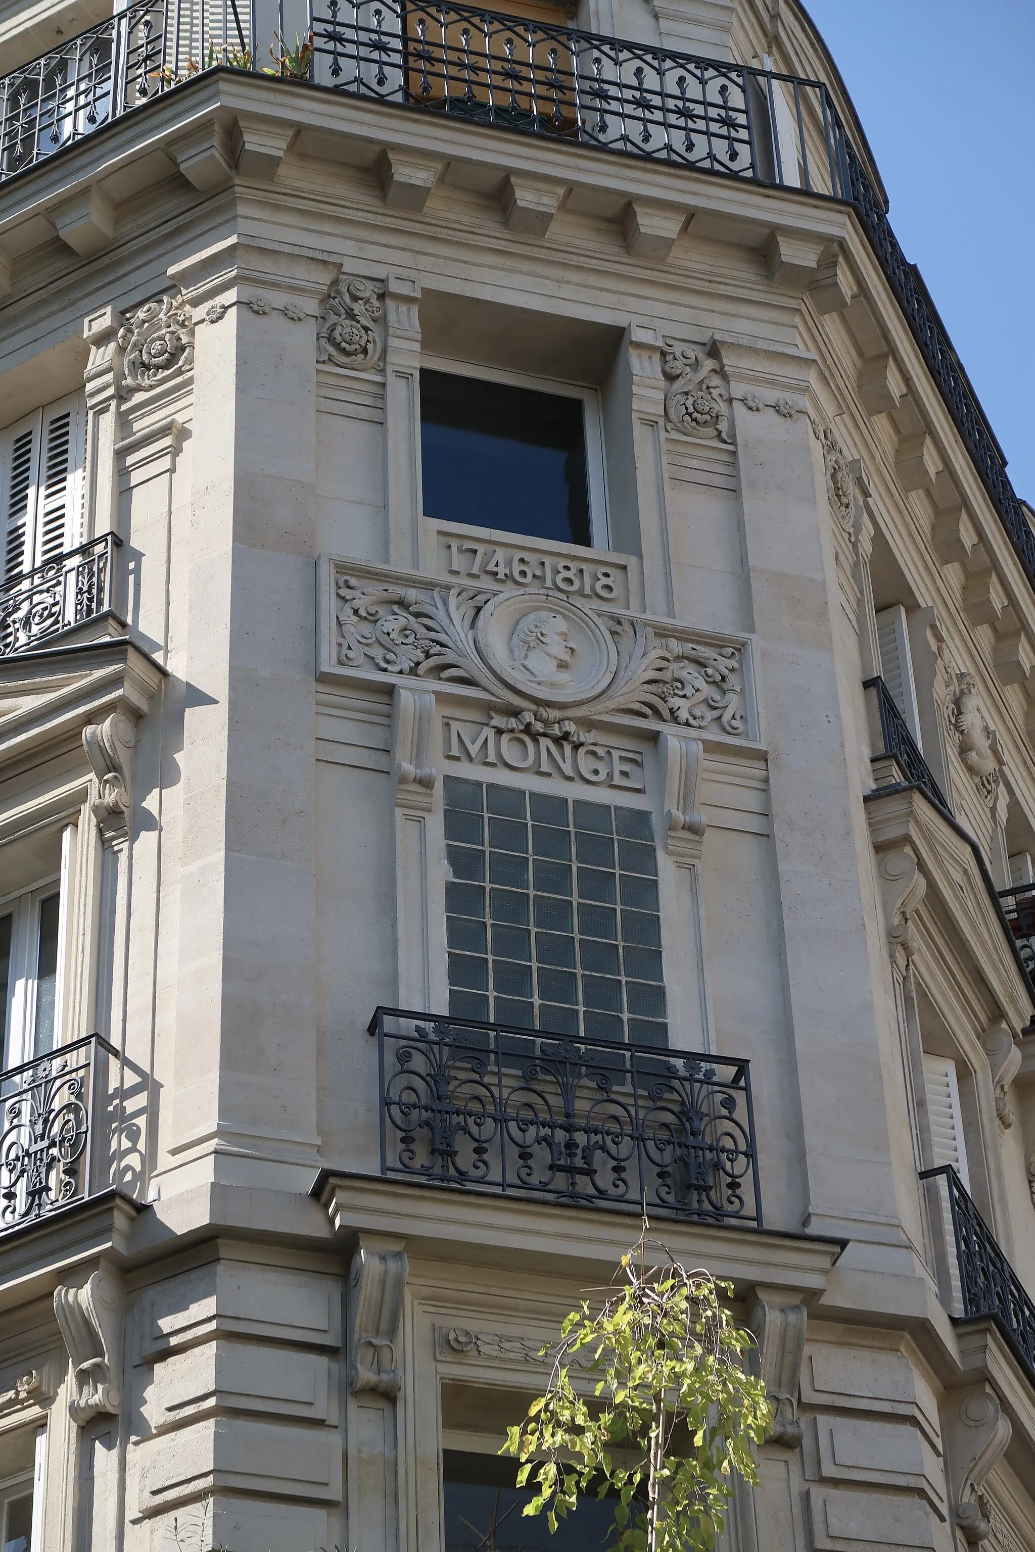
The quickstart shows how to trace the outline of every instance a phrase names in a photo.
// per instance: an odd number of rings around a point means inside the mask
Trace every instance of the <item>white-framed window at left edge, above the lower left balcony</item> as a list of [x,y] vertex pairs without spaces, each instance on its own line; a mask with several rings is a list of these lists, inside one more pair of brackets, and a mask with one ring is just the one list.
[[61,958],[57,880],[0,903],[0,1007],[3,1066],[19,1066],[54,1046]]

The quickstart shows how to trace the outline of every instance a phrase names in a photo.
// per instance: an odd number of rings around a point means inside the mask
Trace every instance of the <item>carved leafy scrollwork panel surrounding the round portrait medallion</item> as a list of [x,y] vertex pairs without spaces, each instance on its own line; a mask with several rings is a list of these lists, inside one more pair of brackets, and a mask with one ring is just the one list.
[[[343,667],[486,689],[518,708],[515,729],[531,714],[528,726],[535,725],[535,731],[552,736],[557,728],[559,736],[582,742],[574,737],[576,722],[568,729],[557,712],[543,708],[542,702],[551,697],[542,686],[529,683],[529,695],[515,692],[486,656],[476,627],[486,605],[500,594],[464,587],[425,591],[351,576],[337,577],[335,593],[337,658]],[[593,715],[658,717],[683,728],[718,722],[728,734],[745,731],[736,647],[663,638],[639,621],[602,615],[596,616],[596,627],[613,644],[608,650],[614,666],[604,683],[587,688],[582,703]],[[591,742],[588,731],[587,740]]]

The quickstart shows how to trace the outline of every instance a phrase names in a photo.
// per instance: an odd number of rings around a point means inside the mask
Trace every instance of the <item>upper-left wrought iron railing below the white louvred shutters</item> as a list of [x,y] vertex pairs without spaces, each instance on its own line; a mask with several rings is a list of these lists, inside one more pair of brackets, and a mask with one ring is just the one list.
[[84,625],[112,607],[118,534],[101,534],[54,556],[34,571],[0,582],[0,658],[29,652],[61,630]]

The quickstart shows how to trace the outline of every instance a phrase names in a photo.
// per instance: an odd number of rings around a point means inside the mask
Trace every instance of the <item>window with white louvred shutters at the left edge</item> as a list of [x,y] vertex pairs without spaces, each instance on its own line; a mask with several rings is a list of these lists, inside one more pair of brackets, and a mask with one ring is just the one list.
[[0,431],[3,579],[79,543],[85,416],[73,394]]

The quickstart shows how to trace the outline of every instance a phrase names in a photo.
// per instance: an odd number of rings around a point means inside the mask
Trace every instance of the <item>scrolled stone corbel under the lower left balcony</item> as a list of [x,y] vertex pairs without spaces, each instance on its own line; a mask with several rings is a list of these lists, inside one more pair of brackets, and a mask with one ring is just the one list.
[[54,1315],[71,1361],[68,1415],[88,1423],[98,1412],[118,1415],[123,1395],[123,1284],[101,1266],[82,1288],[56,1288]]

